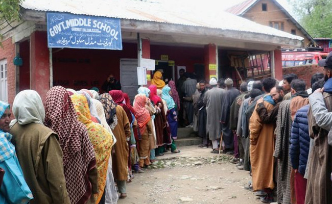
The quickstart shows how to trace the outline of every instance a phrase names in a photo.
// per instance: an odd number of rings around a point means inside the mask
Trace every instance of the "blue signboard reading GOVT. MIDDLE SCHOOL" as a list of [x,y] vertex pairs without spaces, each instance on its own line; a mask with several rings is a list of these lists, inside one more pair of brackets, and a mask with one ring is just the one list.
[[47,13],[49,47],[122,50],[118,18]]

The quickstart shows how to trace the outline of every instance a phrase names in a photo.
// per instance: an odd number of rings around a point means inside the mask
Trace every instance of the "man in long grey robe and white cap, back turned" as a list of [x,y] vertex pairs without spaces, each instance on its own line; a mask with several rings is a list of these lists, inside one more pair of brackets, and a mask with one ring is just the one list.
[[221,117],[221,101],[224,97],[225,90],[217,87],[217,79],[210,79],[211,89],[206,91],[204,96],[204,104],[206,106],[206,134],[212,141],[211,153],[218,154],[218,139],[221,137],[221,125],[219,119]]

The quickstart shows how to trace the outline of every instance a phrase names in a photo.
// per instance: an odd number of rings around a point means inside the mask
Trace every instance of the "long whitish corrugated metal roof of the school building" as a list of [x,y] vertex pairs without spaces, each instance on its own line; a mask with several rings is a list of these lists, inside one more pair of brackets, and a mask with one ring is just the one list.
[[170,7],[160,3],[133,0],[25,0],[21,3],[25,9],[36,11],[68,12],[92,16],[105,16],[140,21],[182,24],[212,29],[259,33],[277,37],[303,40],[245,18],[224,12],[193,10],[189,7]]

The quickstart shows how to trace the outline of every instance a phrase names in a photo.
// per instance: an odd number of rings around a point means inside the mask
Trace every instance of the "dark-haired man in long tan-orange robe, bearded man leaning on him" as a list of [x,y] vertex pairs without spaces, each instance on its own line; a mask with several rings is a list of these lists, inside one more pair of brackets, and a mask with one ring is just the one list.
[[[275,86],[276,80],[266,78],[263,80],[264,106],[267,111],[271,111],[275,105],[271,89]],[[255,107],[255,110],[257,109]],[[252,186],[253,190],[263,189],[267,195],[262,197],[263,202],[272,202],[272,189],[275,184],[273,181],[273,151],[274,151],[274,125],[273,123],[263,124],[257,111],[254,111],[250,117],[250,161],[252,168]]]

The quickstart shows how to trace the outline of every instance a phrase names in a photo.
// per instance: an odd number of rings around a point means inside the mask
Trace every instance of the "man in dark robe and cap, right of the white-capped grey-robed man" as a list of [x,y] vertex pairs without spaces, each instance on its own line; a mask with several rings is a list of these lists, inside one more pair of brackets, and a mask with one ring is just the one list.
[[[233,163],[237,163],[239,161],[239,150],[238,150],[238,143],[236,142],[234,146],[234,137],[236,135],[232,133],[229,128],[229,115],[230,115],[230,106],[232,105],[233,101],[236,97],[240,95],[240,91],[233,87],[233,80],[227,78],[225,80],[226,85],[226,92],[225,97],[221,102],[221,130],[223,132],[223,142],[225,144],[224,151],[234,150],[234,159],[232,160]],[[237,140],[236,140],[237,141]]]

